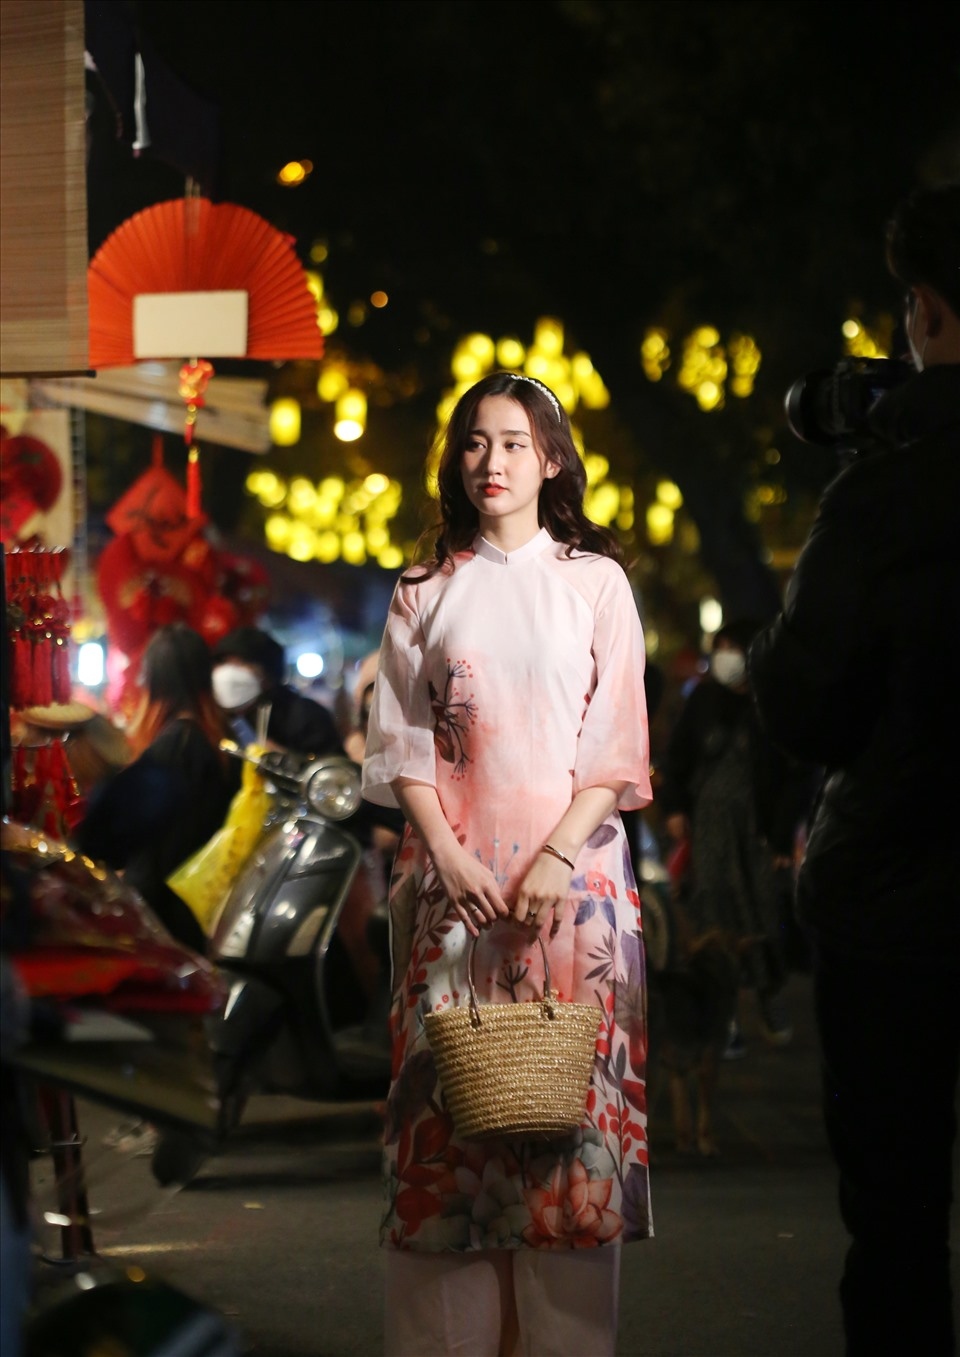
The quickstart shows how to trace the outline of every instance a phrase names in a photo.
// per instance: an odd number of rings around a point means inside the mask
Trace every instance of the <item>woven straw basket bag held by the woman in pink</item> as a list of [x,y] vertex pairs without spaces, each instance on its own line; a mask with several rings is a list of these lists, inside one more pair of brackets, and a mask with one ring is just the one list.
[[470,1004],[424,1019],[454,1125],[464,1140],[569,1134],[583,1121],[600,1010],[551,996],[542,938],[543,997],[479,1004],[477,942],[467,958]]

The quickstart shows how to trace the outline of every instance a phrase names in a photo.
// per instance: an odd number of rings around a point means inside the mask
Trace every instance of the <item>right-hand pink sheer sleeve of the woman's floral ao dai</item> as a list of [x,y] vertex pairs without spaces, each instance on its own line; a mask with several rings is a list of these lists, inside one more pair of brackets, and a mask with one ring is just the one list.
[[653,799],[650,741],[644,692],[644,630],[626,574],[604,573],[595,607],[591,695],[577,745],[573,791],[626,782],[621,810],[640,810]]

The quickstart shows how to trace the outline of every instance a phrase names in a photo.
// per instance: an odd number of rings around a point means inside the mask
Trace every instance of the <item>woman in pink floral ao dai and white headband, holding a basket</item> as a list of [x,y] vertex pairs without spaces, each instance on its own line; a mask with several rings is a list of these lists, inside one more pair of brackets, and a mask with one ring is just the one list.
[[[433,558],[398,582],[364,794],[407,821],[391,882],[387,1352],[612,1354],[619,1244],[652,1234],[640,900],[621,809],[650,799],[644,641],[542,383],[485,377],[443,442]],[[553,987],[603,1014],[580,1130],[464,1141],[424,1014]],[[496,1079],[497,1072],[490,1071]]]

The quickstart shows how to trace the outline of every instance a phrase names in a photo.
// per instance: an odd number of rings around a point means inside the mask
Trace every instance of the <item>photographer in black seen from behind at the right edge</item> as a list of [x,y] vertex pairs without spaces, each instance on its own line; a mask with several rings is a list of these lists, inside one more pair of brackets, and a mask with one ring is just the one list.
[[955,1353],[960,1063],[960,185],[887,229],[914,372],[869,408],[750,653],[773,738],[826,769],[798,881],[851,1236],[847,1354]]

